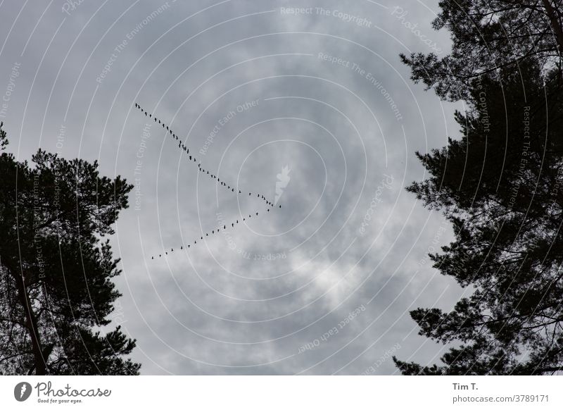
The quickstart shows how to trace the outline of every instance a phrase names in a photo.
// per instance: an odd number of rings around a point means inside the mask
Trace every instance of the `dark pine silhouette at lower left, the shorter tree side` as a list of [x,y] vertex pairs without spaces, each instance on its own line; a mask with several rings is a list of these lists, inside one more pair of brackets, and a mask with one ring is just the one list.
[[0,154],[0,373],[138,374],[123,358],[135,341],[101,329],[120,297],[119,260],[101,241],[132,185],[95,161],[39,150],[32,163]]

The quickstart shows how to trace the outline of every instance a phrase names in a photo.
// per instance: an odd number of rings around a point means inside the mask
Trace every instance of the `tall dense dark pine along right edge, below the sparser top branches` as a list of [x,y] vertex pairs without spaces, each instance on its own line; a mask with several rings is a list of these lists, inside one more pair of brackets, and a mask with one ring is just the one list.
[[[460,16],[450,10],[449,1],[441,6],[441,18]],[[498,22],[503,17],[493,13],[489,18]],[[543,24],[550,27],[549,21]],[[494,30],[487,35],[499,38],[502,32],[498,27],[495,30],[497,37]],[[540,38],[548,42],[538,35]],[[475,38],[474,46],[481,41]],[[499,39],[498,44],[505,43]],[[453,59],[460,62],[463,50],[457,49]],[[502,61],[502,49],[495,52]],[[482,68],[487,58],[479,58],[472,60],[472,54],[467,55],[467,81],[455,86],[457,97],[462,96],[469,105],[467,112],[455,113],[462,138],[450,138],[447,147],[429,154],[417,152],[430,178],[407,188],[429,208],[443,211],[452,223],[454,242],[442,247],[440,254],[429,256],[434,268],[467,287],[469,296],[447,313],[441,309],[411,311],[420,335],[444,344],[455,342],[455,347],[441,357],[441,366],[394,357],[403,374],[563,371],[560,60],[547,68],[545,55],[540,53],[479,74],[470,67]],[[510,58],[506,56],[506,61]],[[427,85],[443,98],[453,97],[448,94],[451,89],[443,88],[451,72],[435,74],[427,77],[432,79]]]

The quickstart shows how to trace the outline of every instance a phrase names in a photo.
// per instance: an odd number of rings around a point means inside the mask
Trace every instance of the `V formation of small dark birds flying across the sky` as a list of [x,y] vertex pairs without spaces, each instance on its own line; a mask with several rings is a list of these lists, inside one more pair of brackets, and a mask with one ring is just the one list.
[[[252,192],[242,192],[242,190],[235,190],[234,186],[232,187],[231,185],[227,184],[227,182],[225,182],[224,180],[221,180],[221,178],[219,178],[218,175],[215,175],[214,173],[210,173],[209,170],[205,170],[202,166],[201,166],[201,162],[199,162],[196,159],[196,156],[194,156],[194,153],[192,152],[190,154],[189,151],[189,147],[186,146],[186,144],[184,144],[184,142],[182,142],[182,139],[180,139],[178,137],[178,135],[173,132],[168,125],[166,125],[162,120],[160,120],[159,118],[156,118],[156,116],[153,116],[151,113],[148,113],[146,110],[144,110],[144,108],[142,108],[139,104],[135,103],[135,108],[139,108],[139,110],[141,111],[141,113],[144,113],[144,115],[148,118],[151,118],[154,120],[155,123],[158,123],[159,125],[162,125],[163,129],[166,130],[166,135],[170,135],[170,137],[178,142],[178,148],[182,149],[182,151],[185,152],[185,158],[188,159],[188,161],[192,162],[192,163],[197,163],[198,166],[198,172],[201,172],[203,175],[208,175],[208,177],[212,180],[215,180],[216,184],[220,184],[220,186],[226,188],[227,190],[229,190],[229,192],[232,192],[233,194],[238,194],[238,195],[246,195],[248,193],[248,197],[253,197],[253,193]],[[268,208],[266,209],[267,212],[270,212],[270,209],[274,207],[274,203],[272,201],[270,201],[269,199],[267,199],[264,195],[256,192],[256,198],[258,199],[262,199],[262,201],[265,201],[266,205],[268,206]],[[279,208],[281,208],[281,205],[279,205]],[[258,212],[254,212],[254,213],[249,213],[248,214],[248,218],[252,218],[252,216],[257,217],[258,216]],[[242,221],[246,220],[246,216],[242,217]],[[239,219],[234,220],[231,223],[230,228],[234,228],[235,225],[239,224]],[[211,230],[211,232],[205,232],[204,234],[201,234],[199,236],[199,238],[196,238],[194,240],[194,243],[192,244],[191,242],[189,244],[182,244],[180,245],[179,249],[184,251],[187,249],[191,249],[192,247],[194,247],[196,244],[198,244],[198,240],[203,241],[204,237],[209,237],[209,235],[215,235],[218,234],[220,232],[220,230],[227,230],[229,229],[229,224],[228,223],[224,223],[222,226],[218,226],[216,229]],[[178,247],[176,248],[178,249]],[[173,252],[174,248],[170,248],[170,252]],[[153,255],[151,256],[151,259],[155,259],[155,258],[162,258],[163,256],[166,256],[168,254],[169,251],[165,250],[163,251],[163,254],[158,254],[158,256]]]

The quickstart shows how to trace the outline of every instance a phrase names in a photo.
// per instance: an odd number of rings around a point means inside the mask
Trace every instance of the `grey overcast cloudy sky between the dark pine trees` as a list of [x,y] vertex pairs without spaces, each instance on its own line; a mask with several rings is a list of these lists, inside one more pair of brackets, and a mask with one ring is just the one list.
[[111,237],[110,328],[137,340],[141,374],[438,362],[447,347],[409,311],[468,291],[431,267],[452,230],[405,187],[425,176],[415,151],[459,137],[463,107],[399,58],[448,54],[437,3],[0,2],[8,151],[97,160],[134,184]]

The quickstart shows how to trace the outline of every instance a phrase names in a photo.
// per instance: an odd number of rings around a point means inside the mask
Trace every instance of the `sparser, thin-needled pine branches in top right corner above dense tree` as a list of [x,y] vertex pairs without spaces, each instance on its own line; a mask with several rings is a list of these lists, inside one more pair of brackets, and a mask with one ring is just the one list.
[[563,0],[442,0],[432,23],[450,32],[452,52],[401,54],[412,80],[448,100],[468,97],[472,79],[527,60],[550,70],[561,66]]

